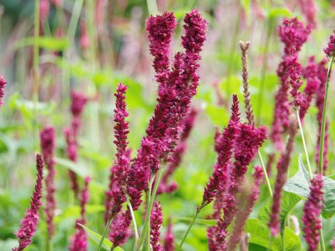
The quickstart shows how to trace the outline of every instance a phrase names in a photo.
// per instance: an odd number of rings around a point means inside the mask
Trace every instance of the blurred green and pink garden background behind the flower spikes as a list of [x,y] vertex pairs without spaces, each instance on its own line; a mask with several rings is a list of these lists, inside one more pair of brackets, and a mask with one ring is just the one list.
[[[40,8],[40,84],[36,91],[33,77],[34,0],[0,0],[0,73],[8,80],[6,98],[0,111],[1,250],[10,250],[17,243],[13,232],[19,227],[20,218],[29,205],[36,173],[34,153],[40,151],[38,132],[41,128],[52,125],[57,131],[57,227],[53,243],[54,250],[66,250],[69,237],[75,230],[75,219],[80,214],[69,188],[68,169],[74,170],[80,177],[87,174],[92,177],[87,225],[94,231],[103,231],[104,191],[107,188],[109,167],[114,159],[112,94],[117,84],[124,82],[129,86],[129,142],[133,155],[156,105],[157,84],[145,31],[145,20],[154,12],[152,1],[84,0],[82,8],[79,8],[81,0],[50,0],[49,7],[44,3],[48,0],[40,1],[45,6]],[[318,60],[324,57],[323,48],[335,28],[335,3],[330,0],[315,2],[318,24],[300,53],[300,61],[304,66],[308,56],[315,55]],[[274,92],[278,85],[276,68],[283,49],[276,30],[285,17],[297,16],[302,22],[306,20],[300,1],[295,0],[158,0],[157,6],[160,12],[173,11],[179,21],[172,52],[181,49],[181,21],[191,8],[198,8],[209,23],[200,63],[200,87],[193,101],[193,107],[199,113],[188,139],[188,150],[174,174],[179,189],[170,195],[158,197],[165,216],[163,235],[166,220],[170,217],[179,242],[188,226],[188,218],[202,199],[204,185],[216,160],[214,129],[226,125],[232,93],[237,93],[240,100],[243,97],[239,40],[251,41],[250,91],[257,122],[271,126]],[[77,14],[78,23],[71,22],[71,18]],[[63,130],[70,123],[71,89],[91,98],[83,114],[79,161],[76,165],[69,162],[64,153],[66,142]],[[334,89],[332,84],[330,121],[335,111]],[[34,102],[37,102],[37,112]],[[312,105],[304,123],[311,160],[314,159],[317,140],[316,111]],[[330,168],[327,174],[330,175],[334,172],[334,123],[331,123],[329,129]],[[267,142],[262,148],[265,161],[267,153],[272,151],[272,144]],[[303,151],[298,136],[290,175],[297,172],[300,153]],[[257,162],[255,160],[255,164]],[[312,168],[316,168],[314,162]],[[271,183],[275,173],[272,172]],[[252,216],[257,215],[268,197],[264,186]],[[136,212],[138,222],[142,220],[143,211],[144,208],[141,208]],[[210,212],[211,206],[207,206],[200,218],[206,218]],[[300,218],[299,212],[300,204],[291,215]],[[333,223],[332,220],[324,223],[327,243],[334,233]],[[208,224],[200,221],[193,227],[184,250],[207,250]],[[42,213],[34,243],[27,250],[43,250],[45,233],[46,224]],[[304,249],[301,234],[300,238]],[[124,249],[131,250],[132,242],[129,241]],[[95,243],[90,241],[89,245],[89,250],[94,250]],[[253,250],[262,250],[259,248]]]

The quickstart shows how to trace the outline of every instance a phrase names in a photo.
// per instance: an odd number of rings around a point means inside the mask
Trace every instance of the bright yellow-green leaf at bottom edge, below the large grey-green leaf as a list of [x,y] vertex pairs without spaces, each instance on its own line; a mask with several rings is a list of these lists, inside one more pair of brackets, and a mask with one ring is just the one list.
[[[248,219],[244,227],[244,231],[250,234],[249,243],[269,248],[272,251],[283,250],[281,244],[281,237],[272,238],[270,248],[270,232],[267,225],[260,222],[258,219]],[[299,237],[289,229],[285,227],[284,232],[285,250],[286,251],[299,251],[301,250],[301,242]],[[254,249],[255,250],[255,249]]]

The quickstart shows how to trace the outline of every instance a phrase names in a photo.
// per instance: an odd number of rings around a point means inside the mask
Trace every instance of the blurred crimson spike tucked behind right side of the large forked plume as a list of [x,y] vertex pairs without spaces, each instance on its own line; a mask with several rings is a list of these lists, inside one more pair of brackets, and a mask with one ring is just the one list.
[[174,153],[172,153],[171,159],[172,162],[168,165],[165,173],[163,174],[163,178],[161,180],[161,183],[159,183],[157,194],[161,194],[162,192],[173,192],[174,190],[177,190],[178,185],[175,182],[168,183],[168,179],[172,174],[174,173],[175,169],[179,167],[182,157],[186,151],[187,144],[186,140],[188,139],[188,136],[190,135],[190,132],[193,128],[195,117],[197,116],[198,112],[196,109],[191,109],[190,114],[186,116],[185,119],[185,127],[183,132],[181,132],[181,135],[179,136],[179,143],[174,149]]

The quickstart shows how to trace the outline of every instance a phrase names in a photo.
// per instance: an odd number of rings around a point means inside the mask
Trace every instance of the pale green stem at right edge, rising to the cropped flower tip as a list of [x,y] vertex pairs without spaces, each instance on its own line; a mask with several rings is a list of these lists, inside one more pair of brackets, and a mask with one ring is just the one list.
[[324,144],[325,144],[325,130],[326,130],[326,116],[327,116],[329,79],[330,79],[330,74],[332,73],[332,66],[333,66],[333,63],[334,63],[334,57],[335,56],[332,56],[332,58],[329,61],[326,87],[325,87],[325,100],[323,102],[322,124],[321,124],[321,133],[320,133],[320,148],[319,148],[319,163],[318,163],[318,170],[319,170],[320,174],[323,174],[323,148],[324,148]]

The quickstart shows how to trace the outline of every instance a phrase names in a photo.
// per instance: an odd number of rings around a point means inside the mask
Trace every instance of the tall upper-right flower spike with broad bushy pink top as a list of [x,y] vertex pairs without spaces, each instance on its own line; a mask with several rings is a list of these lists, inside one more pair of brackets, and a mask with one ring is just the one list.
[[300,107],[304,103],[304,96],[299,91],[299,87],[302,84],[300,79],[302,68],[298,61],[298,53],[301,46],[306,42],[309,32],[297,18],[284,20],[278,29],[279,36],[281,36],[281,41],[285,44],[285,47],[282,61],[277,69],[281,85],[276,93],[274,120],[270,137],[276,148],[281,152],[284,151],[282,135],[285,130],[288,130],[290,124],[290,101],[288,96],[290,86],[292,86],[290,91],[293,97],[292,105]]

